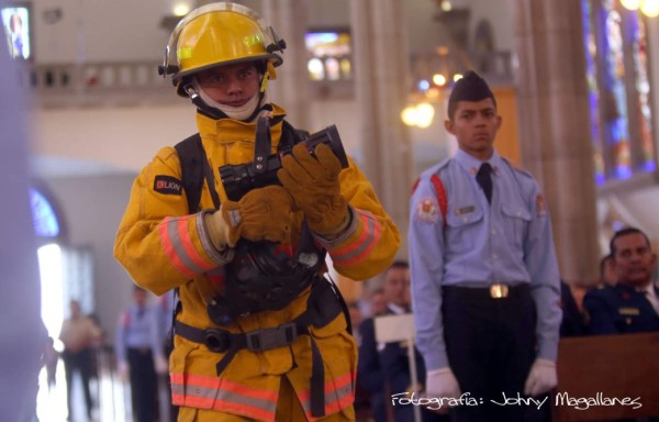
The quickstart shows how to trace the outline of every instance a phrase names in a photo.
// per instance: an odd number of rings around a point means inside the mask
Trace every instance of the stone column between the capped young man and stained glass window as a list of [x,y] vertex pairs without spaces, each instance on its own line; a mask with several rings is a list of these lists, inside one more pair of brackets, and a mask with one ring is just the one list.
[[520,137],[545,191],[563,279],[597,277],[600,246],[580,2],[515,0]]

